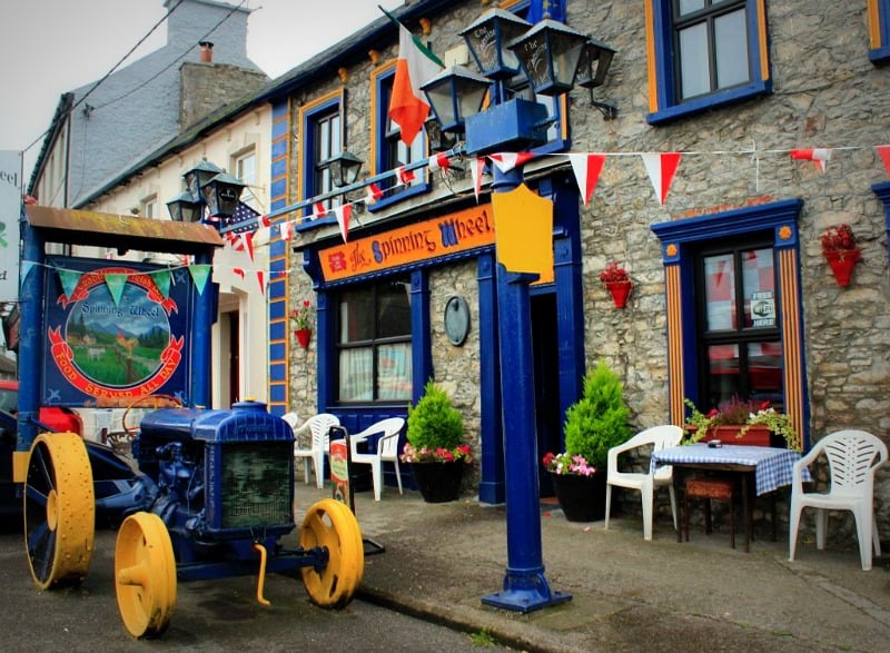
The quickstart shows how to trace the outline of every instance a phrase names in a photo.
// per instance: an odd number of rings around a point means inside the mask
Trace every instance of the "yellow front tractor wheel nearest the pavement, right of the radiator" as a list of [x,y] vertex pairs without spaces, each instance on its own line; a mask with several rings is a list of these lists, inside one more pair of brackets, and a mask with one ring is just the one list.
[[344,607],[352,600],[365,572],[362,530],[346,504],[323,498],[309,507],[299,534],[300,546],[327,551],[320,571],[303,567],[303,585],[313,603],[322,607]]

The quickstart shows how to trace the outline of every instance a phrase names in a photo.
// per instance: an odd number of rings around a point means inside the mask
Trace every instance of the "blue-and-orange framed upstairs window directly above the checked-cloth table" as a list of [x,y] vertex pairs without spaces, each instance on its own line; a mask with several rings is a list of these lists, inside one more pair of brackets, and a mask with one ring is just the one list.
[[651,125],[772,91],[765,0],[646,0]]

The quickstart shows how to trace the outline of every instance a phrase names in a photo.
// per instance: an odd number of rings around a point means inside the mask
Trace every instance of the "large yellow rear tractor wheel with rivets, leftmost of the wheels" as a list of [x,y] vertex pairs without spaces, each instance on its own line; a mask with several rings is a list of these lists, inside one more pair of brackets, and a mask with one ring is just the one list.
[[92,469],[83,441],[76,433],[37,436],[24,479],[24,545],[38,587],[83,580],[95,525]]

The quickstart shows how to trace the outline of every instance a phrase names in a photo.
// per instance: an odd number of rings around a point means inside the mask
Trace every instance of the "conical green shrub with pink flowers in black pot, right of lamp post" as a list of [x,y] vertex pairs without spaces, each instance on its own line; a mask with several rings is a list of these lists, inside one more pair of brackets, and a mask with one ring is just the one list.
[[629,417],[621,379],[601,360],[584,377],[583,396],[565,412],[565,452],[543,461],[570,522],[605,516],[609,449],[633,435]]

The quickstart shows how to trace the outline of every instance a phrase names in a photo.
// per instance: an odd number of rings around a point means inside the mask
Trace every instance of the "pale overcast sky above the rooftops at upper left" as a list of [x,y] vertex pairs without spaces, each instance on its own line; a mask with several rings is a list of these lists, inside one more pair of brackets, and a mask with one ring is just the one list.
[[[239,0],[226,0],[237,4]],[[247,56],[276,78],[402,0],[247,0]],[[0,150],[24,151],[24,180],[59,97],[100,79],[145,37],[164,0],[0,0]],[[128,62],[160,48],[161,26]]]

